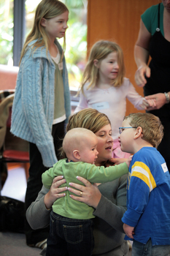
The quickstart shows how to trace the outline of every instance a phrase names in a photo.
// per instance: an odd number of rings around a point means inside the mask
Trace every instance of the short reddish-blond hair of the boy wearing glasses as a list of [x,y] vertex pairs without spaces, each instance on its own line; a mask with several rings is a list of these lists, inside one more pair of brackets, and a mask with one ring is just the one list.
[[131,113],[125,119],[129,119],[131,127],[142,127],[142,139],[158,148],[163,138],[163,125],[158,116],[151,113]]

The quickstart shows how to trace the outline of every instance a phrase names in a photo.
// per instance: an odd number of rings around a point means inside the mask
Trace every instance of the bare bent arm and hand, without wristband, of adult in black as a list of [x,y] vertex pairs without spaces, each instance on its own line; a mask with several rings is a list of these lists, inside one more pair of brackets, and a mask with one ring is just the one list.
[[134,47],[134,59],[138,69],[135,73],[136,84],[140,87],[143,87],[147,80],[144,78],[144,75],[147,78],[150,77],[150,67],[147,66],[149,60],[149,43],[150,43],[151,34],[147,31],[147,28],[144,26],[142,19],[140,20],[140,29],[136,45]]

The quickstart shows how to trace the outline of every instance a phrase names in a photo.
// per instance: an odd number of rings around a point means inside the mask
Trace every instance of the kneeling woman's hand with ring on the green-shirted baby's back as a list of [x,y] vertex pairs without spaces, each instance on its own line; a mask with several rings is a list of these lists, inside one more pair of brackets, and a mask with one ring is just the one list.
[[98,206],[99,201],[101,200],[101,192],[99,191],[97,185],[90,184],[90,181],[80,176],[77,176],[77,179],[79,181],[82,181],[82,183],[84,183],[85,186],[70,182],[69,185],[71,187],[69,187],[68,190],[75,194],[70,195],[70,197],[72,197],[72,199],[74,200],[86,203],[88,206],[96,208]]

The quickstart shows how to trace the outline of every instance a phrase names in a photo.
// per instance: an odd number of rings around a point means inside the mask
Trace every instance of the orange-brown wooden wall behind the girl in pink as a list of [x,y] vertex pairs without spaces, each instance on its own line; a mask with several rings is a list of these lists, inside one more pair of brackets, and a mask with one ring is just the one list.
[[[161,0],[88,0],[88,53],[99,39],[117,42],[124,53],[125,76],[141,95],[143,89],[137,87],[134,81],[134,45],[139,33],[140,16],[148,7],[159,2]],[[127,101],[126,114],[137,111]]]

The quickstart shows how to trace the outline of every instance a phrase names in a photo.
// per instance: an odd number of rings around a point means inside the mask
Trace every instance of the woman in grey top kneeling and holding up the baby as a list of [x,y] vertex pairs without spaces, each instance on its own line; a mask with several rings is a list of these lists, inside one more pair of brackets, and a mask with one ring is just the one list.
[[[84,127],[95,133],[98,138],[98,158],[95,164],[106,166],[107,161],[112,157],[113,146],[112,128],[107,116],[95,109],[80,110],[69,118],[66,129],[69,131],[76,127]],[[126,211],[127,175],[102,184],[90,184],[89,181],[81,177],[77,179],[82,181],[85,186],[71,182],[70,186],[73,188],[70,187],[69,191],[75,194],[71,197],[92,206],[94,208],[93,215],[96,217],[93,219],[95,242],[93,255],[128,255],[128,244],[124,240],[125,234],[121,220]],[[66,180],[62,176],[58,176],[54,179],[50,190],[42,187],[36,201],[26,212],[26,217],[32,228],[39,229],[49,225],[54,201],[65,196],[67,188],[59,188],[64,183]],[[59,194],[60,192],[62,193]],[[80,192],[82,192],[82,197],[80,197]]]

